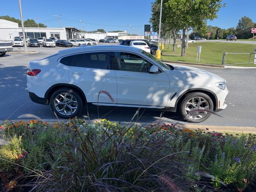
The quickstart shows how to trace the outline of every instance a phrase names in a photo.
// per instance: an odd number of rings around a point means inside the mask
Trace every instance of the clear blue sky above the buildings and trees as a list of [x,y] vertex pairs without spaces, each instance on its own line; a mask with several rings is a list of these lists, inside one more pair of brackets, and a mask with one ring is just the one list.
[[[23,20],[34,19],[48,27],[85,28],[86,31],[102,29],[106,32],[126,30],[142,35],[144,24],[150,24],[151,2],[154,0],[21,0]],[[208,25],[220,28],[236,27],[243,16],[256,22],[255,0],[222,0],[226,7],[218,12],[218,18]],[[0,0],[0,16],[20,19],[18,0]],[[39,18],[39,19],[36,19]],[[79,20],[83,22],[79,22]]]

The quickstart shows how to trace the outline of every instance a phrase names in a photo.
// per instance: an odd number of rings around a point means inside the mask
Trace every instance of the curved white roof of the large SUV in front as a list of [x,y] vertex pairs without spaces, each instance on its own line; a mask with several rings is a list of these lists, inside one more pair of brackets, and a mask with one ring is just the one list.
[[142,50],[136,47],[125,46],[125,45],[95,45],[95,46],[82,46],[78,48],[63,49],[58,53],[61,56],[76,54],[80,52],[91,52],[91,51],[128,51],[141,53]]

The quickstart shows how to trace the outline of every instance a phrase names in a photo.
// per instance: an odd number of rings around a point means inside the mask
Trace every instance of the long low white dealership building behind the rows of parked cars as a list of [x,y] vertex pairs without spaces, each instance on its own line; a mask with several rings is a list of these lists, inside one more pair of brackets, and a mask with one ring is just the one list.
[[[81,32],[81,30],[75,27],[64,28],[34,28],[25,27],[26,37],[38,38],[38,37],[57,37],[62,40],[92,38],[95,40],[116,38],[116,39],[142,39],[144,36],[128,36],[127,31],[123,32],[96,32],[87,33]],[[0,19],[0,39],[13,40],[16,36],[23,36],[22,28],[18,26],[18,23]]]

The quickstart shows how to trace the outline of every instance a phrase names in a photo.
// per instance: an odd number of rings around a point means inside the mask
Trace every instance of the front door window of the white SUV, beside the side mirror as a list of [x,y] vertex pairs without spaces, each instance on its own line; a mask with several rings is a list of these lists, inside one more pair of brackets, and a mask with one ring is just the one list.
[[126,52],[112,53],[112,69],[130,72],[148,73],[152,64],[144,58]]

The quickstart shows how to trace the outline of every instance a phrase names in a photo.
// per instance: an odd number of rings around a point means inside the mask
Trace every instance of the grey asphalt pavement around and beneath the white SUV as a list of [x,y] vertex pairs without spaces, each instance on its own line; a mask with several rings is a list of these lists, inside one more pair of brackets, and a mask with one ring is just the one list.
[[[17,48],[15,48],[17,49]],[[21,48],[23,49],[23,48]],[[26,71],[31,60],[44,58],[63,48],[28,48],[36,50],[37,54],[14,54],[7,53],[0,58],[0,120],[4,119],[56,119],[49,106],[36,104],[28,97],[26,88]],[[218,69],[202,68],[216,73],[227,80],[229,94],[227,108],[218,112],[219,117],[212,115],[201,125],[214,126],[256,126],[256,69]],[[114,121],[129,122],[134,116],[135,108],[106,108],[89,107],[89,112],[84,110],[80,118],[90,120],[107,118]],[[140,109],[139,122],[162,122],[176,123],[181,120],[177,113],[165,112],[160,118],[160,111]],[[186,122],[184,122],[186,123]]]

